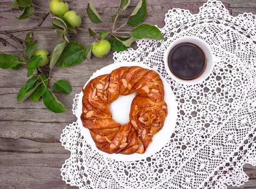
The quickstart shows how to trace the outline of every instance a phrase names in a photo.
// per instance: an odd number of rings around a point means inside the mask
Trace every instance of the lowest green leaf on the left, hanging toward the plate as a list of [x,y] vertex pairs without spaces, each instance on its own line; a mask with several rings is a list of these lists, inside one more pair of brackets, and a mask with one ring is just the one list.
[[52,112],[61,113],[67,111],[66,107],[57,100],[48,87],[44,88],[43,101],[44,105]]

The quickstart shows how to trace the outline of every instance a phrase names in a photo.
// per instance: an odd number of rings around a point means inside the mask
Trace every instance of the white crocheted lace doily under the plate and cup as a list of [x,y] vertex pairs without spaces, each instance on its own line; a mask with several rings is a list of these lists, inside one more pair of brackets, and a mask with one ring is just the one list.
[[[159,153],[118,162],[91,149],[74,122],[61,135],[71,152],[61,168],[66,183],[81,189],[224,189],[224,183],[248,180],[242,166],[256,165],[255,15],[233,17],[220,1],[208,1],[198,14],[169,10],[165,22],[160,30],[166,41],[137,41],[137,50],[116,52],[114,60],[145,63],[166,78],[178,104],[175,133]],[[165,71],[164,52],[181,36],[200,37],[221,58],[201,84],[183,86]]]

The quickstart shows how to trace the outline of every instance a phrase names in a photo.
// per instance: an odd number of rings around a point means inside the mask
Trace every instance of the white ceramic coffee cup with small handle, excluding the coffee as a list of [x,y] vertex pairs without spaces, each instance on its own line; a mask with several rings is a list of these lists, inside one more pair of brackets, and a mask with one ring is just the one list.
[[[169,53],[176,45],[178,45],[180,43],[195,44],[204,52],[204,55],[207,60],[206,68],[205,68],[204,72],[200,76],[196,77],[195,79],[192,79],[192,80],[180,79],[180,78],[176,77],[171,72],[171,69],[169,68],[169,64],[168,64]],[[184,85],[194,85],[194,84],[202,83],[202,81],[207,79],[207,77],[209,77],[209,75],[212,73],[214,63],[217,63],[217,62],[219,62],[219,58],[215,57],[212,54],[212,51],[211,51],[211,48],[209,47],[209,45],[198,37],[180,37],[180,38],[174,40],[170,44],[170,46],[166,49],[166,53],[164,55],[164,64],[165,64],[167,73],[169,74],[170,77],[172,77],[173,80],[177,81],[178,83],[184,84]]]

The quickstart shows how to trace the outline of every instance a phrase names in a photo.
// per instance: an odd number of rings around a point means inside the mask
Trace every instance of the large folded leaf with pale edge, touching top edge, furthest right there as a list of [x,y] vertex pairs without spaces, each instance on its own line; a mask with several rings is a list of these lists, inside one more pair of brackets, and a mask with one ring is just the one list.
[[140,0],[134,11],[131,13],[127,20],[127,24],[135,26],[139,24],[147,15],[146,0]]

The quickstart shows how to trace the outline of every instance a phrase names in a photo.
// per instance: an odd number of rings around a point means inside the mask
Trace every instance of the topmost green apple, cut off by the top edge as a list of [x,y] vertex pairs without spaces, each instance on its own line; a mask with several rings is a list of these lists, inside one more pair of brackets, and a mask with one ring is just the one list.
[[63,16],[69,10],[69,6],[64,0],[51,0],[49,9],[53,14],[60,14]]

